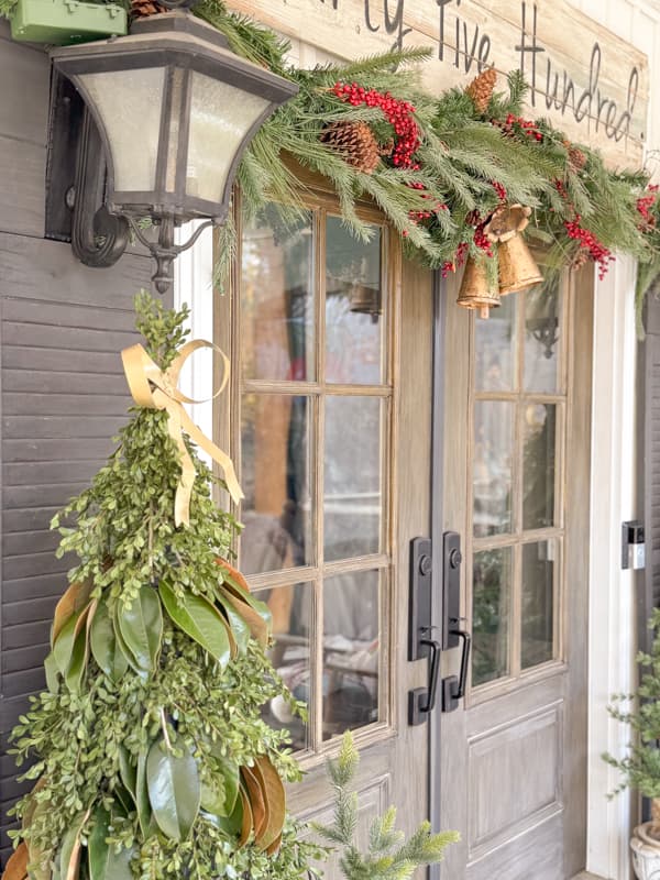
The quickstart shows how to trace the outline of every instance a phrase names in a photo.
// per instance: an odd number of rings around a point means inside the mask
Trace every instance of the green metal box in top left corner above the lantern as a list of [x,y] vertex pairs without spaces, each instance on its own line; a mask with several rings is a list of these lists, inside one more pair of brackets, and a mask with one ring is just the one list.
[[127,32],[127,11],[118,3],[19,0],[11,18],[13,40],[54,46],[123,36]]

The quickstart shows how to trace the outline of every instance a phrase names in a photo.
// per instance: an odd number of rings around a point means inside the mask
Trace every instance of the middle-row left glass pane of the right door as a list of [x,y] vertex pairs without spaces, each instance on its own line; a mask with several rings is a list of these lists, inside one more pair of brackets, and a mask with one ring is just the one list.
[[474,536],[512,531],[514,405],[474,405]]

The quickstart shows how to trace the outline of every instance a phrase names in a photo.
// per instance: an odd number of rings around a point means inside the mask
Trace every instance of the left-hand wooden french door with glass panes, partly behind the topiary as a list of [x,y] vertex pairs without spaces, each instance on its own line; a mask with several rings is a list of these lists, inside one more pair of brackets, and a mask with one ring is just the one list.
[[430,522],[431,280],[403,265],[373,208],[360,209],[360,242],[330,194],[306,198],[295,222],[273,208],[240,230],[232,296],[216,310],[233,371],[217,433],[245,493],[239,565],[273,612],[273,663],[307,707],[306,719],[266,710],[307,771],[289,806],[331,817],[323,763],[350,728],[361,825],[395,804],[410,829],[428,815],[428,732],[406,714],[427,670],[405,646],[408,543]]

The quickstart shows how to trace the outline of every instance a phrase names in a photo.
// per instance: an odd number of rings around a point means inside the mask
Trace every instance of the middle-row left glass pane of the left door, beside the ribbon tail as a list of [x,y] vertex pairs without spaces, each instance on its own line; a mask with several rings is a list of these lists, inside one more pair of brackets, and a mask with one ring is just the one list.
[[311,561],[308,397],[246,394],[242,403],[241,569],[244,574]]

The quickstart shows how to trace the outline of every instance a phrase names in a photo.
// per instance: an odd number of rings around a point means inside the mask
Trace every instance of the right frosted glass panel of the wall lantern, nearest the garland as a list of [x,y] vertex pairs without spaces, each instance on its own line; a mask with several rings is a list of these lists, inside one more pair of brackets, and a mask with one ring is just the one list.
[[222,202],[235,155],[270,101],[195,72],[186,196]]

